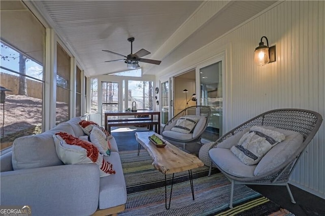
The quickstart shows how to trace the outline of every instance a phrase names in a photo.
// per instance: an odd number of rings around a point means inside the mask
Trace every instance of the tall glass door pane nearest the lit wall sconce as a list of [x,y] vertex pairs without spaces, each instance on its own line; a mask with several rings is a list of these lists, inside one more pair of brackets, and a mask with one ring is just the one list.
[[200,104],[211,107],[203,138],[215,141],[222,135],[222,61],[199,68]]

